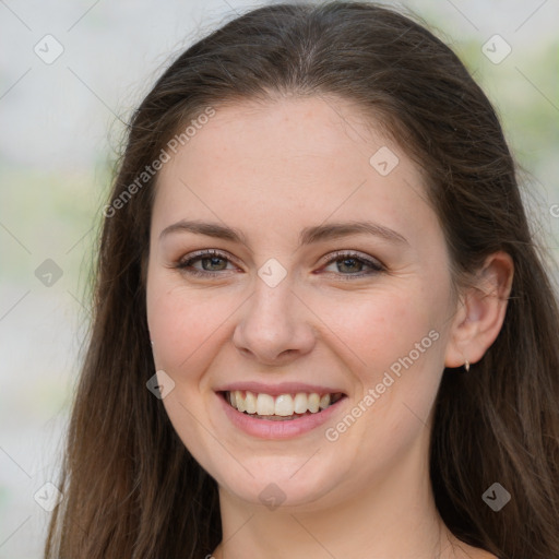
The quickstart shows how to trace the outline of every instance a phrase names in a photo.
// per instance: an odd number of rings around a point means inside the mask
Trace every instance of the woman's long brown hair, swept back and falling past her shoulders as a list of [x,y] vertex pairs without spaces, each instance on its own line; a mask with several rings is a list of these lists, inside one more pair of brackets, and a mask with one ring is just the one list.
[[[512,257],[499,336],[469,373],[443,373],[430,474],[440,514],[462,540],[502,559],[559,557],[559,311],[515,164],[493,108],[452,50],[411,19],[360,2],[250,11],[180,55],[133,115],[105,211],[64,499],[46,557],[199,559],[221,540],[216,483],[146,389],[157,175],[138,178],[207,107],[274,95],[356,102],[393,134],[428,179],[456,284],[495,251]],[[481,498],[496,481],[511,495],[499,512]]]

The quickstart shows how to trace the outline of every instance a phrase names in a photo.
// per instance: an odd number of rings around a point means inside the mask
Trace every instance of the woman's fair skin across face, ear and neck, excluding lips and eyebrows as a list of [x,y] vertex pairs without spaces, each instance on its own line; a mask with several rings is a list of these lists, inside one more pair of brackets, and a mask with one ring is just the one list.
[[[382,146],[399,157],[385,176],[369,163]],[[186,230],[160,237],[181,219],[234,227],[246,243]],[[353,234],[298,248],[305,227],[365,219],[399,238]],[[225,253],[189,264],[207,277],[176,267],[203,249]],[[358,255],[328,263],[338,250]],[[359,257],[383,271],[350,260]],[[165,409],[218,484],[215,558],[493,557],[444,526],[429,485],[428,443],[444,367],[476,362],[497,337],[512,262],[489,257],[479,289],[456,298],[448,258],[419,169],[340,99],[221,107],[163,167],[147,321],[156,369],[175,382]],[[286,272],[274,286],[258,273],[269,259]],[[412,354],[429,333],[428,348],[424,342]],[[362,407],[404,356],[413,364]],[[216,390],[242,381],[320,384],[346,397],[325,424],[266,439],[224,413]],[[359,402],[360,416],[328,439],[326,429]],[[262,491],[282,502],[271,507]]]

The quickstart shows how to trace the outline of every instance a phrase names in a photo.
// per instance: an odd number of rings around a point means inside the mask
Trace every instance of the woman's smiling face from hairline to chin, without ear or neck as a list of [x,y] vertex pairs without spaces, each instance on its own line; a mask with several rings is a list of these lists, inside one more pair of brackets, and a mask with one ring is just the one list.
[[319,97],[218,108],[159,173],[147,320],[163,403],[231,499],[312,510],[427,475],[449,257],[418,168],[362,122]]

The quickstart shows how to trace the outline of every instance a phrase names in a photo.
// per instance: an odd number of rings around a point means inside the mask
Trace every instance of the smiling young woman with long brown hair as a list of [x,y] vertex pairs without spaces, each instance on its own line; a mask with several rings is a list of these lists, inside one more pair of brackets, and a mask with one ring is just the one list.
[[558,306],[487,97],[261,8],[136,110],[46,557],[559,557]]

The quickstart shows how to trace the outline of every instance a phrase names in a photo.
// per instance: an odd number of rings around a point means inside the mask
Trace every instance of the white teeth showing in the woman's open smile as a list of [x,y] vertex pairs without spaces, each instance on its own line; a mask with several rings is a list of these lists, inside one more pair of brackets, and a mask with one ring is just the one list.
[[317,392],[297,392],[294,394],[254,393],[248,390],[221,392],[224,400],[235,409],[255,419],[289,421],[322,411],[347,397],[342,392],[319,394]]

